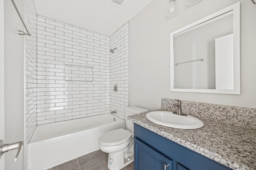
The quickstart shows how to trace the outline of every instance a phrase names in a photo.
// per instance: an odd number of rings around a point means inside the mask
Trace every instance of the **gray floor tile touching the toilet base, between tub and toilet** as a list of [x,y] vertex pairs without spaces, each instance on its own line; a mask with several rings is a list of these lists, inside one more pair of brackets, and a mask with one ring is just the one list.
[[100,164],[108,160],[108,154],[105,152],[102,152],[101,150],[97,150],[85,156],[81,156],[77,159],[78,159],[80,169],[86,170],[88,168],[91,168],[92,166],[95,166],[97,164]]

